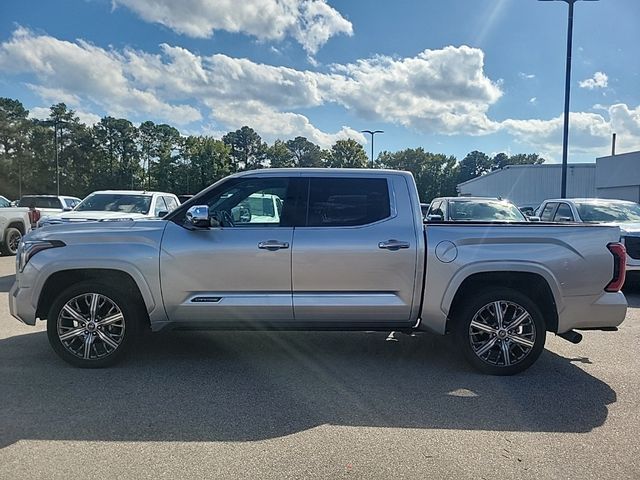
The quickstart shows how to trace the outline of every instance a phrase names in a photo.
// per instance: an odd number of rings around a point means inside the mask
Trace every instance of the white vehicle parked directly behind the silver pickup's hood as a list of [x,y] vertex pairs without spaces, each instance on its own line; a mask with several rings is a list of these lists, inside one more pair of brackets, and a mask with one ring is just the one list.
[[163,217],[180,205],[172,193],[135,190],[93,192],[70,212],[43,215],[39,226],[89,220],[135,220]]

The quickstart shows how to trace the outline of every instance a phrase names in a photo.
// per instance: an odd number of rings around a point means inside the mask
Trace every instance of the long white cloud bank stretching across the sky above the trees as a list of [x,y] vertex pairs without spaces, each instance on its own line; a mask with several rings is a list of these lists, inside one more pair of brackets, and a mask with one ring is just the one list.
[[[485,75],[482,50],[467,46],[405,58],[378,56],[319,72],[223,54],[201,56],[170,45],[161,45],[158,54],[100,48],[20,28],[0,43],[0,71],[28,75],[29,88],[43,101],[65,101],[87,119],[94,115],[93,120],[98,117],[92,106],[134,121],[182,124],[192,132],[250,125],[265,139],[302,135],[322,146],[347,137],[364,141],[359,128],[323,131],[300,113],[334,104],[365,126],[394,123],[446,135],[503,131],[551,157],[562,141],[562,117],[491,119],[488,111],[502,90]],[[571,151],[606,153],[613,131],[621,149],[640,148],[640,107],[600,107],[572,114]]]

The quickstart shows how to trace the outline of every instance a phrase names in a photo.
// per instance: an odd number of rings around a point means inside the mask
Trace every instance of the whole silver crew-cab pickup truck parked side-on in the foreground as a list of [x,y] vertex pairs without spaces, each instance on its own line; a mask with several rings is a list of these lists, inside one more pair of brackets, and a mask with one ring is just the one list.
[[[274,197],[277,211],[251,211]],[[577,343],[573,329],[624,320],[619,239],[615,227],[424,225],[406,172],[265,169],[162,220],[35,231],[9,300],[22,322],[47,319],[53,349],[80,367],[113,364],[149,327],[427,330],[508,375],[538,358],[546,332]]]

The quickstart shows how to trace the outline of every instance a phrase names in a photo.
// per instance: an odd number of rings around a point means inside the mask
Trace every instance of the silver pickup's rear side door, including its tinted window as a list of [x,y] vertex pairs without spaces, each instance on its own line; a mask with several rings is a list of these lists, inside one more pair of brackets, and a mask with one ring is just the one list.
[[293,239],[296,322],[407,324],[418,241],[404,177],[318,174],[308,189]]

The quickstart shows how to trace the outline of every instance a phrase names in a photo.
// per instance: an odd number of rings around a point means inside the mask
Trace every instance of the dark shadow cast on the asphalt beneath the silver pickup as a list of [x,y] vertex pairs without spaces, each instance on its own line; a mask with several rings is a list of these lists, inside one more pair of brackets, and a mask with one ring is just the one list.
[[322,424],[588,432],[616,393],[546,351],[515,377],[475,373],[448,339],[383,333],[145,336],[103,370],[44,332],[0,340],[0,447],[20,439],[251,441]]

